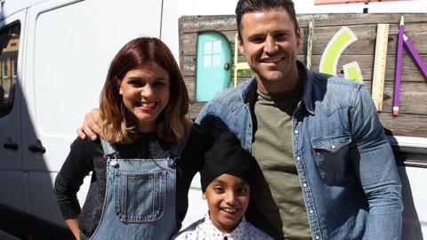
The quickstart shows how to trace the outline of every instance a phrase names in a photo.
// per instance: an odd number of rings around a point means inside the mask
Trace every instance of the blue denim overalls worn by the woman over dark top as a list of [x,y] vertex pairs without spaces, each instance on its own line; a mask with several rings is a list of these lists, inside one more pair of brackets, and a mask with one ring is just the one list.
[[90,239],[170,239],[176,233],[175,160],[186,141],[174,143],[167,158],[117,159],[114,145],[101,139],[107,161],[106,196]]

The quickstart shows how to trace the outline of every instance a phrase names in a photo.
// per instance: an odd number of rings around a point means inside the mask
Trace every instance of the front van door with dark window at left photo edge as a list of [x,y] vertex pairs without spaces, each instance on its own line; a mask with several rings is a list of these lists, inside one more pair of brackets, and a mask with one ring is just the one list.
[[0,215],[2,229],[20,231],[23,218],[14,212],[28,211],[28,172],[22,172],[20,137],[21,62],[26,10],[0,22]]

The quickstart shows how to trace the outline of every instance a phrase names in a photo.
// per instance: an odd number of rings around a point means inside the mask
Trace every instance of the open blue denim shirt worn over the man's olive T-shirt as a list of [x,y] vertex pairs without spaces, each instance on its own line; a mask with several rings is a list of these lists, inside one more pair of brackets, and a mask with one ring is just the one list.
[[[313,239],[400,239],[399,174],[369,92],[297,65],[304,90],[292,143]],[[253,77],[219,92],[196,122],[215,137],[235,132],[251,150],[256,88]]]

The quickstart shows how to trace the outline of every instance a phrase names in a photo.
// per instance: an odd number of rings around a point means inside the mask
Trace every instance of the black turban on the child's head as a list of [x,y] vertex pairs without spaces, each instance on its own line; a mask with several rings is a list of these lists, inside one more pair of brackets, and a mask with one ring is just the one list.
[[218,176],[227,173],[245,180],[249,185],[254,179],[255,159],[241,147],[232,132],[222,132],[214,147],[205,153],[205,164],[200,170],[202,191]]

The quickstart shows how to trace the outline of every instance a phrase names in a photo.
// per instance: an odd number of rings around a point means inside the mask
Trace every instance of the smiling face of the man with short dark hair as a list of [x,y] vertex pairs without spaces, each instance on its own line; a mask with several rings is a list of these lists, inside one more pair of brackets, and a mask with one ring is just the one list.
[[254,70],[264,92],[284,92],[294,89],[298,80],[296,54],[301,30],[284,8],[263,12],[248,12],[240,22],[241,40],[238,48]]

